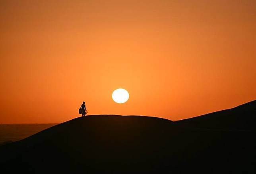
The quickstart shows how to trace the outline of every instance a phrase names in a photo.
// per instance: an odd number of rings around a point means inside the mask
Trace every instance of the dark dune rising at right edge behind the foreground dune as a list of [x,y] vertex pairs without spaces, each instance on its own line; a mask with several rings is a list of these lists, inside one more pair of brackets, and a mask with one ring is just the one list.
[[218,130],[256,130],[256,100],[232,109],[176,121],[184,127]]

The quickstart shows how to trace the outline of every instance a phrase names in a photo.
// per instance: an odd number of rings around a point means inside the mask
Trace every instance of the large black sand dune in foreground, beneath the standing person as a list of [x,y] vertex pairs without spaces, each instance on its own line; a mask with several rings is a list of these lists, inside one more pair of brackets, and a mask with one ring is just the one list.
[[250,121],[243,124],[248,128],[221,124],[218,129],[208,123],[208,115],[200,116],[200,124],[142,116],[76,118],[0,146],[1,168],[9,173],[254,173],[255,130],[250,126],[256,103],[239,107],[242,113],[233,108],[218,117],[216,112],[215,124],[240,117]]

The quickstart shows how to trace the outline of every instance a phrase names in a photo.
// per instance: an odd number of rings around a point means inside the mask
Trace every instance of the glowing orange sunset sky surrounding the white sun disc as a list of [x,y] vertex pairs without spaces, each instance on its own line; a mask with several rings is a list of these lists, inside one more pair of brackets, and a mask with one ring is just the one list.
[[[2,0],[0,124],[185,119],[256,99],[254,0]],[[130,99],[115,103],[125,88]]]

